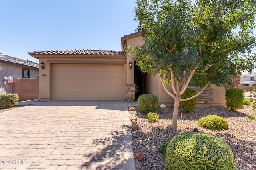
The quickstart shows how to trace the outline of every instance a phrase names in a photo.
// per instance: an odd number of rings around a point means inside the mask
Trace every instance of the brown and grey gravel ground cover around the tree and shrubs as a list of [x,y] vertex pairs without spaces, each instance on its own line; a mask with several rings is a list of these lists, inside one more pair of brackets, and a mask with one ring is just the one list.
[[[229,111],[226,107],[197,107],[192,113],[178,111],[178,129],[172,129],[173,107],[158,107],[160,119],[150,123],[147,115],[134,107],[131,116],[138,117],[139,129],[132,130],[132,143],[134,152],[142,152],[144,160],[135,160],[137,170],[164,170],[164,158],[158,152],[163,140],[170,141],[179,133],[194,131],[210,133],[222,137],[232,149],[238,170],[256,170],[256,120],[251,121],[252,106],[243,106],[238,112]],[[227,130],[210,130],[197,125],[198,119],[207,115],[218,115],[228,120]]]

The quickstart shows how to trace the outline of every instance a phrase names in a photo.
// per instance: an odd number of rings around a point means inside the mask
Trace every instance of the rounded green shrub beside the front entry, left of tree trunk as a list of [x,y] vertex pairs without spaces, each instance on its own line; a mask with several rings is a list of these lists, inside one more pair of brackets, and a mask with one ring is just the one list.
[[138,99],[140,113],[156,112],[158,98],[153,94],[142,94]]

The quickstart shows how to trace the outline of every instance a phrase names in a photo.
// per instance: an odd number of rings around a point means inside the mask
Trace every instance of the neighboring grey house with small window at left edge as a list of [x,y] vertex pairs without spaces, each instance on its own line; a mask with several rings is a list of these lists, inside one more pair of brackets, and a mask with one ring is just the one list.
[[0,53],[0,93],[12,93],[12,83],[4,85],[3,77],[13,78],[37,78],[39,66],[38,63],[19,59]]

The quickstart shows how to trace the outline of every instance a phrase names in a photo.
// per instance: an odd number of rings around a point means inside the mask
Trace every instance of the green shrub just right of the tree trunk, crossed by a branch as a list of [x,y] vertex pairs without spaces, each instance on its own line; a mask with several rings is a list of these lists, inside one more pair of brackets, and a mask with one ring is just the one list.
[[[192,88],[187,88],[181,95],[182,99],[190,98],[197,94],[197,91]],[[180,108],[186,112],[192,112],[196,108],[197,96],[185,102],[180,102]]]

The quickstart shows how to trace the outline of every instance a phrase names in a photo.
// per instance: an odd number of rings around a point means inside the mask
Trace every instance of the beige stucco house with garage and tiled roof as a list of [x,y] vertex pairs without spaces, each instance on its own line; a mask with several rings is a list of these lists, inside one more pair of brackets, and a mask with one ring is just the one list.
[[[121,37],[124,45],[142,45],[142,33]],[[158,76],[142,74],[134,58],[122,51],[32,51],[39,59],[40,100],[128,100],[154,94],[159,104],[173,105]],[[171,87],[168,87],[171,89]],[[199,90],[199,88],[195,88]],[[225,89],[213,86],[198,96],[198,106],[225,106]]]

